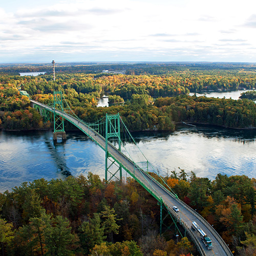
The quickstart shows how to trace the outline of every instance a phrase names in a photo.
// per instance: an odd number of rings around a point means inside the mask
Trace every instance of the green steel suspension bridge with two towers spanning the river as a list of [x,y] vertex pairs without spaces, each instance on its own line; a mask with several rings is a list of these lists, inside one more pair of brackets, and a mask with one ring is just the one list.
[[[49,113],[54,115],[54,138],[57,139],[57,135],[62,135],[62,139],[66,139],[64,131],[63,120],[66,119],[92,139],[98,146],[105,151],[105,181],[109,181],[113,177],[122,179],[122,170],[125,170],[131,177],[133,177],[142,187],[144,187],[148,193],[150,193],[160,204],[160,233],[162,232],[162,212],[163,209],[176,220],[185,230],[185,234],[188,233],[189,237],[196,244],[198,251],[203,256],[231,256],[232,252],[228,246],[216,232],[216,230],[199,215],[195,210],[190,208],[184,202],[179,200],[177,195],[172,189],[167,189],[154,179],[150,173],[155,171],[154,167],[148,162],[143,153],[138,148],[138,154],[144,159],[140,162],[135,162],[133,157],[125,148],[125,143],[122,141],[121,134],[127,134],[132,138],[129,131],[123,124],[119,114],[108,115],[103,119],[100,119],[96,123],[86,123],[79,119],[71,109],[63,108],[63,101],[61,92],[54,92],[53,105],[45,105],[35,100],[30,100],[34,108],[37,108],[41,115],[47,117]],[[52,115],[52,114],[51,114]],[[113,140],[115,138],[116,140]],[[133,139],[133,138],[132,138]],[[135,141],[134,141],[135,143]],[[136,144],[136,143],[135,143]],[[112,171],[113,167],[117,168],[115,172]],[[119,172],[119,178],[118,178]],[[160,177],[160,176],[159,176]],[[161,177],[160,177],[161,178]],[[164,181],[163,181],[164,182]],[[173,206],[176,205],[180,211],[176,212]],[[197,224],[204,230],[208,237],[211,238],[213,249],[208,250],[203,242],[201,242],[199,233],[191,229],[191,223],[196,221]],[[180,232],[180,236],[183,237]]]

